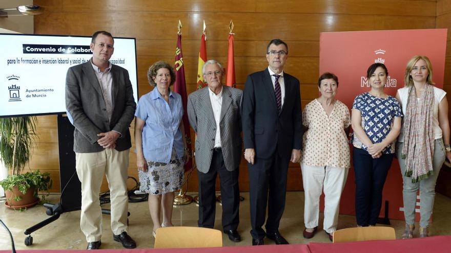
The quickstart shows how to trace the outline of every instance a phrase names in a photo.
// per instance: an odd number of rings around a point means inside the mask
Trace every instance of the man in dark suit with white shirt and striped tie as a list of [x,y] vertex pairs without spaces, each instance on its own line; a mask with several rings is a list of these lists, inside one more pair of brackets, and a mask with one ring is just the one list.
[[[283,73],[288,45],[273,39],[267,47],[266,70],[248,76],[243,91],[244,158],[248,161],[252,245],[266,235],[288,244],[279,233],[285,208],[289,162],[298,163],[302,148],[299,81]],[[268,203],[266,233],[262,226]]]

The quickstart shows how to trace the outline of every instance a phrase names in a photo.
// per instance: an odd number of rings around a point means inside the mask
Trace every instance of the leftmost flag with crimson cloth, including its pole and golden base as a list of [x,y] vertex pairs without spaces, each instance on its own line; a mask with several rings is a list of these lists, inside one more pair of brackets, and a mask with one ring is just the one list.
[[[180,94],[180,96],[182,97],[182,102],[183,102],[183,111],[184,111],[184,115],[183,115],[183,119],[182,119],[182,124],[183,126],[185,126],[185,138],[187,140],[187,145],[188,145],[188,150],[190,152],[190,159],[188,161],[188,165],[186,166],[190,166],[187,167],[188,169],[188,173],[186,173],[186,177],[183,180],[183,183],[180,187],[180,191],[178,193],[177,196],[174,197],[174,201],[173,204],[174,205],[183,205],[183,204],[189,204],[193,201],[193,197],[189,196],[186,194],[186,192],[188,191],[188,180],[191,176],[191,172],[195,169],[196,167],[196,163],[192,163],[192,166],[189,165],[190,162],[192,162],[192,160],[194,159],[194,153],[193,150],[191,149],[191,134],[190,134],[190,128],[189,128],[189,124],[188,124],[188,118],[187,118],[187,105],[186,105],[186,100],[187,100],[187,90],[186,90],[186,82],[185,82],[185,68],[183,67],[183,55],[181,52],[181,22],[180,20],[178,20],[178,25],[177,25],[177,47],[175,50],[175,71],[176,71],[176,84],[174,85],[174,91],[178,94]],[[186,171],[186,168],[183,168]],[[184,192],[183,191],[183,186],[187,187],[187,190]]]

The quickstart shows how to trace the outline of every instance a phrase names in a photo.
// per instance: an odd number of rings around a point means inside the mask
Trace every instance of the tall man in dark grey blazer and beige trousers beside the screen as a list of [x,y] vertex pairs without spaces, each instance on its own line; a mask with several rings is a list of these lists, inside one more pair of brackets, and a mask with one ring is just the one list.
[[98,249],[102,233],[100,185],[108,179],[113,239],[135,248],[127,235],[127,169],[131,139],[129,127],[136,103],[129,74],[110,63],[113,36],[93,34],[92,58],[69,68],[66,76],[66,109],[73,119],[76,171],[81,181],[81,231],[87,249]]

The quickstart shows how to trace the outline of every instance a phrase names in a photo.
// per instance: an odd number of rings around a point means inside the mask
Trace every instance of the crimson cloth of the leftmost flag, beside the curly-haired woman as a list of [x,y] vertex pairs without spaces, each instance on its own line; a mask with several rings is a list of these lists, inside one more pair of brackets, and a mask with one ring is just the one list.
[[[183,66],[183,54],[181,52],[181,33],[177,36],[177,47],[175,48],[175,83],[174,92],[180,94],[183,104],[183,127],[185,128],[185,137],[188,145],[188,152],[191,154],[191,131],[190,123],[188,122],[187,114],[187,84],[185,82],[185,67]],[[190,157],[188,163],[185,164],[185,172],[192,168],[192,158]]]

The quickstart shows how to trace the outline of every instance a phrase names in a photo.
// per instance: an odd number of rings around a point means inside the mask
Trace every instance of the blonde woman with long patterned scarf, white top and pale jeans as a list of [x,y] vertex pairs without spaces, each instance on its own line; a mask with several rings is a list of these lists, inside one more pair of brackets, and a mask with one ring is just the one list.
[[451,160],[446,92],[434,86],[432,75],[429,59],[414,56],[406,66],[405,87],[396,94],[404,114],[396,146],[403,179],[403,239],[413,238],[418,189],[420,237],[428,236],[437,176],[445,158]]

